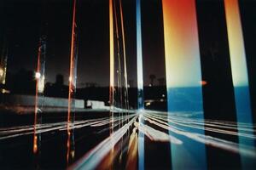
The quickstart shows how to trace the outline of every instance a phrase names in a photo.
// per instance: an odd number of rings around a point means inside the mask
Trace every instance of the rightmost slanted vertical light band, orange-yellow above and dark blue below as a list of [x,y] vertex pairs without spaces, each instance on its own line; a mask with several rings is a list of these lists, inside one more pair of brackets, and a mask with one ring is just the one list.
[[[236,118],[238,133],[241,132],[239,122],[252,123],[250,94],[248,89],[247,61],[242,36],[239,3],[237,0],[224,0],[227,32],[230,48],[232,80],[236,99]],[[239,144],[254,145],[253,140],[239,137]],[[243,168],[250,167],[251,161],[241,156]]]

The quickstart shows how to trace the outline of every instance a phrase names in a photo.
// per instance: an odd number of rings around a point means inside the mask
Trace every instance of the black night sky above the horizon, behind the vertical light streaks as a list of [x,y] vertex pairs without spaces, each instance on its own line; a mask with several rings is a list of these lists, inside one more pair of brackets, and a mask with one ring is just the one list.
[[[135,0],[123,1],[128,79],[134,80],[134,84],[136,84],[137,78],[135,2]],[[218,0],[197,0],[196,2],[197,4],[222,3]],[[248,23],[255,23],[252,17],[252,14],[255,15],[255,12],[253,13],[251,9],[253,6],[255,7],[255,1],[247,0],[241,1],[241,3],[244,25],[247,28],[252,27]],[[16,72],[20,68],[35,70],[38,39],[42,32],[46,32],[46,81],[55,82],[55,75],[62,74],[67,83],[72,6],[71,0],[1,0],[0,38],[1,41],[4,38],[7,39],[9,44],[9,71]],[[251,9],[248,10],[248,13],[245,12],[247,8]],[[218,10],[219,8],[216,9]],[[214,13],[211,16],[211,14],[207,14],[207,11],[203,11],[201,8],[197,8],[197,10],[201,10],[198,11],[202,13],[201,20],[212,17],[212,20],[217,20],[216,22],[218,23],[218,17],[215,19]],[[204,13],[207,14],[206,17]],[[218,12],[215,14],[218,14]],[[202,22],[207,22],[207,20]],[[199,25],[207,26],[206,23],[199,23]],[[47,28],[46,31],[45,27]],[[108,86],[108,0],[79,0],[78,27],[79,85],[84,82],[96,82],[101,86]],[[201,29],[201,31],[203,30]],[[160,0],[142,0],[142,31],[143,73],[145,85],[148,85],[150,74],[154,74],[157,78],[166,77]],[[213,36],[218,36],[218,31],[212,31],[212,34]],[[247,41],[252,42],[248,36]],[[3,41],[1,42],[2,44]],[[250,45],[250,43],[247,44]],[[211,45],[210,43],[206,46],[209,47]],[[253,54],[253,52],[251,53]]]

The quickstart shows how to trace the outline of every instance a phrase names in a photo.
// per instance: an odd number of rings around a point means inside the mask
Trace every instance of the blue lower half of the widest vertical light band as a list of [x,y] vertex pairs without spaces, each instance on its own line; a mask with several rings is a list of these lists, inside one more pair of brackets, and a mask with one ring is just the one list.
[[[201,87],[168,88],[167,99],[169,116],[183,116],[183,114],[189,113],[194,115],[193,118],[195,119],[204,118]],[[171,122],[169,124],[170,127],[176,126]],[[182,127],[182,130],[190,133],[204,134],[204,130],[190,127]],[[187,169],[188,167],[189,169],[207,169],[205,144],[196,143],[172,131],[169,131],[169,133],[183,141],[183,145],[171,143],[173,169]]]

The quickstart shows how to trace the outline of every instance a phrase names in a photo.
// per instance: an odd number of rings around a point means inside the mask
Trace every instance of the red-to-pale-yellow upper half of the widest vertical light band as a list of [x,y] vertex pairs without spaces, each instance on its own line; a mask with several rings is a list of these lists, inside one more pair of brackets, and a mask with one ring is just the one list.
[[162,0],[168,88],[196,87],[201,62],[195,0]]

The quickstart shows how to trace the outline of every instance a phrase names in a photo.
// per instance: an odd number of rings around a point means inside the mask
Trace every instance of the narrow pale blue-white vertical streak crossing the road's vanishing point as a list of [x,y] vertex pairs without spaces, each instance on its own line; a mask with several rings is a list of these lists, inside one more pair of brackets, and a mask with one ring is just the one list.
[[[143,48],[141,26],[141,0],[136,1],[137,20],[137,110],[139,114],[144,109],[143,101]],[[142,115],[139,116],[139,126],[143,124]],[[144,133],[138,132],[138,169],[144,169]]]

